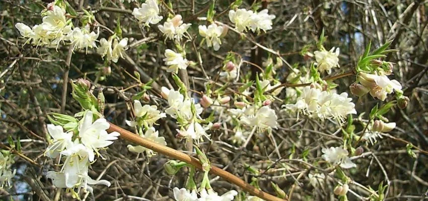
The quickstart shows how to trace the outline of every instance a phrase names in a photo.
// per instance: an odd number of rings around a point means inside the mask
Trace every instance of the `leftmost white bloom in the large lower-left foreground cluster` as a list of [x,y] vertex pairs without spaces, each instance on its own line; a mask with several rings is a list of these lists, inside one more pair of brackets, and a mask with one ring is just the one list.
[[47,130],[50,137],[52,137],[52,142],[46,148],[45,154],[49,158],[56,158],[62,150],[73,143],[73,133],[64,133],[64,129],[61,126],[55,126],[53,124],[48,124]]

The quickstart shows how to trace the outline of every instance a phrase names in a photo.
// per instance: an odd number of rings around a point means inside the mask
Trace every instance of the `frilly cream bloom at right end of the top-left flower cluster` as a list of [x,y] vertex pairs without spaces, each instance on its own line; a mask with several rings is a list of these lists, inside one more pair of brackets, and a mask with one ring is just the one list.
[[97,40],[100,34],[100,29],[98,28],[98,32],[89,32],[89,26],[84,29],[80,29],[79,27],[75,28],[73,31],[68,33],[67,40],[69,40],[73,44],[74,49],[86,49],[88,51],[88,47],[97,48],[95,41]]

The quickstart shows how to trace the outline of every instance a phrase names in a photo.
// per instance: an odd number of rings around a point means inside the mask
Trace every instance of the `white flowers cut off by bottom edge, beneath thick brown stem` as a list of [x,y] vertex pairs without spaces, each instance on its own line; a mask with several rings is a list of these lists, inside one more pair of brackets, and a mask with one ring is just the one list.
[[176,201],[232,201],[237,194],[238,192],[236,190],[230,190],[223,195],[219,195],[212,189],[202,189],[200,191],[200,197],[198,198],[195,190],[190,192],[186,188],[174,188],[174,198]]

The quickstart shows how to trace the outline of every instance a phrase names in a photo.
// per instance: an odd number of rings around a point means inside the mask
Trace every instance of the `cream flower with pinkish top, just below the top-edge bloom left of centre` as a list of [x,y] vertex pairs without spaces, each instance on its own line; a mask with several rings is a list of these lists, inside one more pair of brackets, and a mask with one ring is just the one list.
[[187,29],[192,25],[186,23],[183,24],[181,19],[181,15],[176,15],[174,18],[168,19],[164,25],[158,25],[158,28],[168,39],[177,39],[180,41],[184,34],[187,33]]

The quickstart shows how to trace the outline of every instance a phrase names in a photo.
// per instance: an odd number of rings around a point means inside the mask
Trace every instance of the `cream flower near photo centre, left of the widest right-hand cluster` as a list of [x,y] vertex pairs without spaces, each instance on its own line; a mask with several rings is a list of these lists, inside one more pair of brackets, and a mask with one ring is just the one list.
[[[270,109],[268,106],[263,106],[258,109],[256,112],[251,111],[252,109],[246,109],[246,116],[241,118],[241,122],[250,126],[257,127],[259,131],[264,129],[274,128],[276,129],[278,123],[276,120],[278,117],[275,114],[275,111]],[[249,112],[251,111],[251,112]],[[248,114],[249,113],[249,114]],[[252,115],[253,113],[254,115]]]

